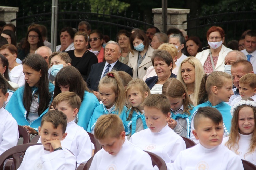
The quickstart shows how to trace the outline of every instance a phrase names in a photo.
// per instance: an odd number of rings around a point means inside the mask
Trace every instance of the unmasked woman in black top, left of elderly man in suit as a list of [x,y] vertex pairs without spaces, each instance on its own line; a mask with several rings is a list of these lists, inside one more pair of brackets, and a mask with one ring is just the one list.
[[72,59],[71,65],[79,70],[86,81],[91,71],[91,65],[98,63],[94,53],[87,50],[88,36],[85,32],[77,32],[74,36],[74,50],[67,51]]

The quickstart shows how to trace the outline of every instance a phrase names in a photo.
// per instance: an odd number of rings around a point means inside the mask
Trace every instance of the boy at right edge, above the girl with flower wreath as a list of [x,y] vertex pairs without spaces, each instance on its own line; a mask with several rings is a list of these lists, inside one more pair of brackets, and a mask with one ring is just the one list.
[[239,94],[240,96],[235,98],[230,106],[234,106],[240,100],[247,100],[248,98],[256,101],[256,74],[248,73],[242,76],[239,80]]

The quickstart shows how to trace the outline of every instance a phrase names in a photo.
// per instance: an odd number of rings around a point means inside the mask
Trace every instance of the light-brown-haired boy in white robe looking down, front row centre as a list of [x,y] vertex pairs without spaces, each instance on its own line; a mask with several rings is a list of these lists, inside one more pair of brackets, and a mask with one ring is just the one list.
[[100,116],[94,128],[94,135],[103,149],[94,155],[89,170],[154,169],[150,156],[127,140],[123,122],[118,115],[106,114]]

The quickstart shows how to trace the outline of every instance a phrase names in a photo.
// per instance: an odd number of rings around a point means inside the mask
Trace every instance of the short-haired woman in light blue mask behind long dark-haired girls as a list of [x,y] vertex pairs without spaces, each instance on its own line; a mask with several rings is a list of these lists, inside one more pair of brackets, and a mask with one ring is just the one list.
[[66,52],[53,52],[51,56],[49,56],[50,63],[50,77],[49,80],[55,81],[55,77],[61,68],[71,65],[71,58]]

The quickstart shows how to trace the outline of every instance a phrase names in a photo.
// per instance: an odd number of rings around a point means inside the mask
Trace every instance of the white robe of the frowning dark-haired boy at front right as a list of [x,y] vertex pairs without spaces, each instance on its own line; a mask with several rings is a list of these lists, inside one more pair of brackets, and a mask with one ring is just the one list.
[[208,149],[198,144],[177,156],[173,163],[175,170],[243,170],[239,156],[223,145]]

